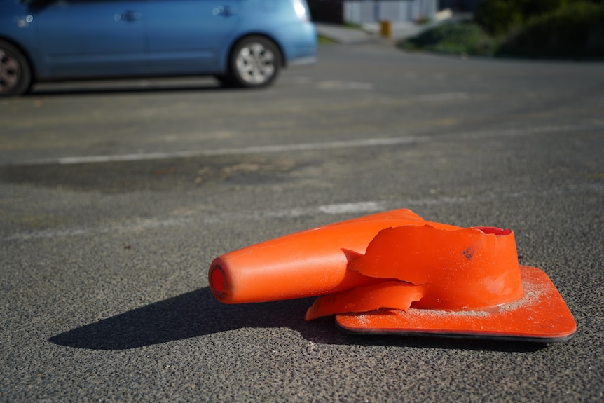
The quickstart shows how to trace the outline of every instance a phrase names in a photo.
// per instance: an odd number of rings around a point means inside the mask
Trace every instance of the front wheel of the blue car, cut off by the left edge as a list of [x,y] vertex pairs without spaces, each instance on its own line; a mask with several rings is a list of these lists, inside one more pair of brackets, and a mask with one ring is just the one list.
[[0,40],[0,97],[21,95],[32,84],[32,69],[18,48]]

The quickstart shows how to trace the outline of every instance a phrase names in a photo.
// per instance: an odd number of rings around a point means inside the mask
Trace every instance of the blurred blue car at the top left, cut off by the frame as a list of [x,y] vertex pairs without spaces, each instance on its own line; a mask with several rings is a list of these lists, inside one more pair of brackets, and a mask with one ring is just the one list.
[[315,62],[306,0],[0,0],[0,95],[35,81],[215,76],[264,87]]

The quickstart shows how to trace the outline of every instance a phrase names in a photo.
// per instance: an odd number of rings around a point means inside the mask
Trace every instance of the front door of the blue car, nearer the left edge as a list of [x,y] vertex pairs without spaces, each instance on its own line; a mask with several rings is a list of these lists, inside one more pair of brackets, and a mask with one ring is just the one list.
[[34,15],[48,74],[125,76],[146,69],[146,0],[50,0]]

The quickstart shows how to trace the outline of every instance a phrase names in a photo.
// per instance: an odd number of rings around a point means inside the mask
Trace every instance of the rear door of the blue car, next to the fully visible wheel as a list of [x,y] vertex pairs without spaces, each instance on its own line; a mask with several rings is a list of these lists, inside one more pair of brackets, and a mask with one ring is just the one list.
[[156,73],[216,73],[236,32],[238,0],[150,0],[147,41]]

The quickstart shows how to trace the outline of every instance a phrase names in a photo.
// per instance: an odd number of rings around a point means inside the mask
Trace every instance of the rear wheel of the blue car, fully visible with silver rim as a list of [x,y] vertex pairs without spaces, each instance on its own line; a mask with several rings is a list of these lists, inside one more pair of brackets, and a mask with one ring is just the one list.
[[279,75],[281,64],[280,50],[273,41],[264,36],[247,36],[233,48],[228,81],[240,87],[266,87]]

